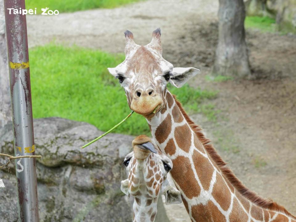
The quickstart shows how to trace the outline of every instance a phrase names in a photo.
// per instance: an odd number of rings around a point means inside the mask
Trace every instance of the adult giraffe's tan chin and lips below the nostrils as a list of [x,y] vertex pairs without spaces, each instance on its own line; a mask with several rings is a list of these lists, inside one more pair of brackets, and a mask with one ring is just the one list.
[[136,113],[147,117],[154,116],[160,110],[161,105],[162,99],[159,95],[154,97],[143,96],[137,100],[133,99],[130,108]]

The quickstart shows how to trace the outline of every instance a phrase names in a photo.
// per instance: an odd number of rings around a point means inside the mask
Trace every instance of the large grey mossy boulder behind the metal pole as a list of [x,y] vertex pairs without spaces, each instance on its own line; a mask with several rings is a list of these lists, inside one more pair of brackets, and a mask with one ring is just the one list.
[[[102,132],[84,122],[62,118],[34,120],[40,221],[131,221],[131,206],[120,190],[126,179],[123,156],[134,137],[108,134],[82,145]],[[0,153],[14,155],[12,124],[0,128]],[[5,162],[4,158],[0,162]],[[0,215],[17,221],[15,166],[2,168]],[[2,188],[1,188],[2,189]],[[1,221],[2,221],[1,219]]]

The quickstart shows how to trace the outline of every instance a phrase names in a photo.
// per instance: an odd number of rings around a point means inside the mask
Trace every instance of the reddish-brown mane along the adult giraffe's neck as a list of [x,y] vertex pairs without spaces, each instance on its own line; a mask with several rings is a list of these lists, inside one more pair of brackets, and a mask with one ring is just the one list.
[[220,155],[217,153],[216,149],[212,144],[208,144],[211,142],[210,139],[206,138],[204,133],[202,132],[202,129],[199,125],[196,125],[188,116],[184,108],[182,107],[182,104],[178,101],[175,95],[173,95],[174,100],[179,107],[181,113],[183,114],[185,120],[189,124],[190,128],[193,130],[199,141],[203,144],[205,150],[210,155],[210,157],[213,159],[213,161],[216,163],[216,165],[221,170],[224,177],[231,183],[231,185],[245,198],[250,200],[253,204],[256,204],[257,206],[265,209],[269,209],[276,212],[283,212],[287,216],[292,217],[293,219],[296,219],[295,216],[293,216],[290,212],[286,210],[283,206],[277,204],[271,199],[265,199],[255,192],[249,190],[245,185],[234,175],[232,170],[226,166],[226,162],[223,161],[223,159],[220,157]]

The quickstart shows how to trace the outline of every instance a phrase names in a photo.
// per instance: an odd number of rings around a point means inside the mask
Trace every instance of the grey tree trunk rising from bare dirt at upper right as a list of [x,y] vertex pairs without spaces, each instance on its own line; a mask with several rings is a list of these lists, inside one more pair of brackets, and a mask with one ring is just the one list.
[[250,77],[245,42],[243,0],[219,0],[219,40],[213,74],[235,78]]

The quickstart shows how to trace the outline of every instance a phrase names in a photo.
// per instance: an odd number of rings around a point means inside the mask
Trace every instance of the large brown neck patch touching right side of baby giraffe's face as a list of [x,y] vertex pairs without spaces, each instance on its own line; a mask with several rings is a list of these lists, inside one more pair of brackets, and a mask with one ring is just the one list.
[[[179,156],[172,160],[172,162],[174,167],[171,170],[171,175],[176,183],[178,183],[181,190],[189,199],[197,197],[200,193],[200,187],[195,180],[189,158]],[[186,183],[184,183],[184,181],[186,181]]]

